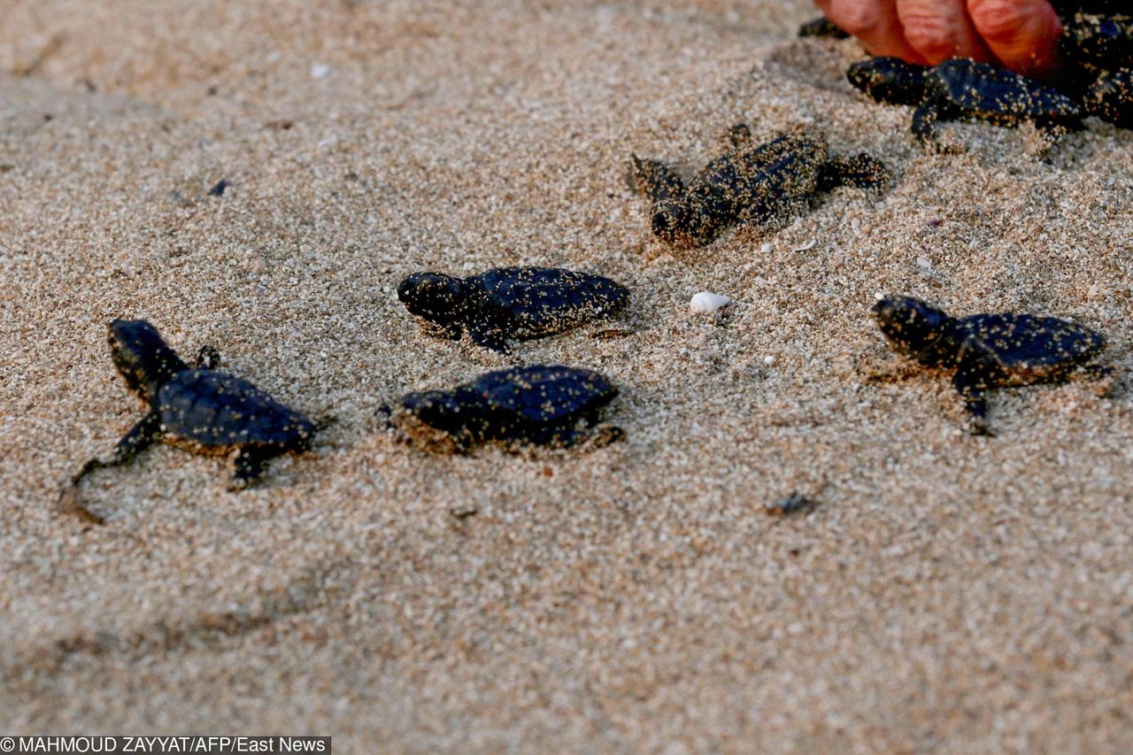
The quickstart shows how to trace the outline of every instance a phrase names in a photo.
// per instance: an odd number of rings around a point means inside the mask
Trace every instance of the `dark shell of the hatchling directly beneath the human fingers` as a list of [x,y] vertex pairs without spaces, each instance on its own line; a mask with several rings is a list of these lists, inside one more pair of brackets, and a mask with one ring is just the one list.
[[966,58],[947,60],[926,76],[930,96],[965,114],[988,120],[1071,122],[1082,116],[1076,102],[1033,79]]

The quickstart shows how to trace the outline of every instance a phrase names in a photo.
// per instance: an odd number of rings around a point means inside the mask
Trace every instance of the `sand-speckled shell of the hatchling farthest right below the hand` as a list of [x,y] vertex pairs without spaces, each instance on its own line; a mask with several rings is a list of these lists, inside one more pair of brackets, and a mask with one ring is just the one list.
[[978,340],[995,358],[1006,382],[1042,382],[1085,364],[1105,348],[1106,339],[1084,325],[1058,317],[1026,314],[979,314],[960,320],[965,346]]

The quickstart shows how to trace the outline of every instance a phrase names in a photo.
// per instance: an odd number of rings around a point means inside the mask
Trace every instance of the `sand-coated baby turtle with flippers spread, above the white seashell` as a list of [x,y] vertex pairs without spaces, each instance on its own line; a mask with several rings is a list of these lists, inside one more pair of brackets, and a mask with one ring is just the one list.
[[731,149],[685,185],[671,168],[633,155],[631,181],[653,202],[654,235],[676,248],[712,243],[729,226],[763,223],[808,205],[820,192],[885,183],[885,166],[868,154],[832,158],[826,139],[793,130],[757,144],[743,124],[732,127]]

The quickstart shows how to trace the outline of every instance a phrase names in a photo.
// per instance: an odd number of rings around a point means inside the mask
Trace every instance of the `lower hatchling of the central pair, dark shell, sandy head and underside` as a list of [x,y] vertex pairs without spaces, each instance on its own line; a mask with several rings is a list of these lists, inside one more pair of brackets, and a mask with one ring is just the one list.
[[598,424],[615,396],[617,388],[591,370],[533,365],[488,372],[451,391],[409,393],[385,412],[401,440],[435,451],[462,453],[489,441],[513,450],[599,447],[624,435]]

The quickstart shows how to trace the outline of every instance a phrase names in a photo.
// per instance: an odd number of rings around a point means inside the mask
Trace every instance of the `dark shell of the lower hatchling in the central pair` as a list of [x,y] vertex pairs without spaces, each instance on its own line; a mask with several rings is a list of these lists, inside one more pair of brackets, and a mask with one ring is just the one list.
[[497,418],[562,425],[593,415],[617,396],[605,376],[579,367],[533,365],[497,370],[459,385],[457,400],[476,404]]

